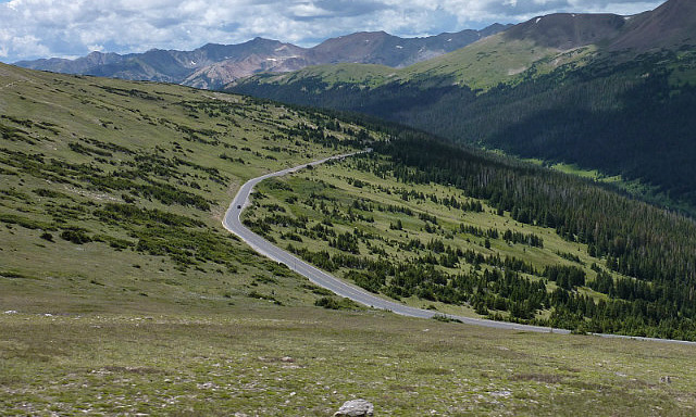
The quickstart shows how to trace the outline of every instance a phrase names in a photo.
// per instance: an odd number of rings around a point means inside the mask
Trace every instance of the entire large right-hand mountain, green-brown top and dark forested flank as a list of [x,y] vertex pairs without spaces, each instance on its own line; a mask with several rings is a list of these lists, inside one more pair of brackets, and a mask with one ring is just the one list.
[[324,65],[228,90],[597,169],[636,198],[693,215],[694,22],[682,0],[635,16],[554,14],[405,68]]

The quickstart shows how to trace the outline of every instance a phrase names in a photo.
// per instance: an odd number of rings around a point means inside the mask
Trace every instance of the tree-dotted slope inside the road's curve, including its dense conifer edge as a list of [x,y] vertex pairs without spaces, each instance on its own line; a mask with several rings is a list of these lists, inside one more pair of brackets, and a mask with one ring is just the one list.
[[340,165],[263,185],[247,225],[423,307],[470,306],[581,332],[696,337],[691,219],[408,130]]

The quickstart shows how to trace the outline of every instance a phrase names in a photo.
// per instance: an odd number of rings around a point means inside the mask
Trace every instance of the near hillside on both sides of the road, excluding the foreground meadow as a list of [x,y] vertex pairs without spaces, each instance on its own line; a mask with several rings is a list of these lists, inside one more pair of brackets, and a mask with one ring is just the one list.
[[[316,178],[318,189],[295,190],[270,181],[264,187],[289,193],[270,202],[262,199],[271,191],[259,193],[266,213],[249,225],[330,271],[418,305],[694,338],[693,294],[672,292],[696,279],[696,228],[679,216],[401,128],[370,132],[327,115],[174,86],[13,67],[3,77],[0,219],[11,244],[1,273],[17,278],[2,281],[3,296],[23,308],[29,300],[30,309],[52,305],[55,289],[69,311],[201,293],[223,305],[238,296],[311,302],[319,293],[294,280],[276,293],[277,276],[294,275],[257,266],[221,230],[229,184],[388,136],[393,144],[373,144],[382,157],[350,166],[336,184]],[[355,180],[358,173],[363,179]],[[320,192],[341,180],[348,194]],[[428,191],[428,182],[455,188]],[[374,197],[351,198],[362,186]],[[298,247],[302,236],[314,242]],[[638,314],[632,308],[641,303],[649,308]]]

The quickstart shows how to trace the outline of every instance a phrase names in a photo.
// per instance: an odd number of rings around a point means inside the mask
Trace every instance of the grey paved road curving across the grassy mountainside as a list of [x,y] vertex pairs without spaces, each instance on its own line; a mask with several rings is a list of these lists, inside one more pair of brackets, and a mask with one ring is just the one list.
[[[253,187],[257,184],[263,181],[264,179],[281,177],[287,174],[296,173],[310,165],[314,166],[314,165],[323,164],[328,161],[343,160],[345,157],[352,156],[359,153],[364,153],[364,152],[370,152],[370,150],[331,156],[323,160],[298,165],[291,168],[286,168],[275,173],[265,174],[260,177],[250,179],[249,181],[245,182],[241,186],[241,188],[237,192],[237,195],[235,195],[234,200],[232,200],[232,203],[229,204],[229,208],[227,208],[227,212],[225,213],[225,216],[222,220],[222,225],[225,229],[238,236],[243,241],[249,244],[258,253],[266,257],[270,257],[271,260],[277,263],[285,264],[288,268],[308,278],[314,285],[325,288],[337,295],[345,296],[357,303],[360,303],[362,305],[365,305],[372,308],[385,309],[402,316],[432,318],[435,315],[443,315],[442,313],[410,307],[394,301],[389,301],[389,300],[376,296],[375,294],[362,288],[349,285],[334,277],[333,275],[327,274],[311,264],[308,264],[307,262],[302,261],[296,255],[274,245],[273,243],[269,242],[268,240],[263,239],[261,236],[249,230],[249,228],[247,228],[245,225],[241,224],[241,220],[240,220],[241,212],[244,211],[244,208],[247,207],[247,205],[250,204],[249,195],[251,194],[251,191],[253,190]],[[472,317],[464,317],[464,316],[450,315],[450,314],[445,316],[450,319],[460,320],[468,325],[490,327],[490,328],[497,328],[497,329],[545,332],[545,333],[552,332],[552,333],[561,333],[561,334],[570,333],[570,330],[567,330],[567,329],[520,325],[520,324],[507,323],[507,321],[494,321],[494,320],[488,320],[483,318],[472,318]],[[621,334],[595,334],[595,336],[599,336],[604,338],[636,339],[636,340],[660,341],[660,342],[696,345],[696,342],[687,342],[682,340],[641,338],[641,337],[630,337],[630,336],[621,336]]]

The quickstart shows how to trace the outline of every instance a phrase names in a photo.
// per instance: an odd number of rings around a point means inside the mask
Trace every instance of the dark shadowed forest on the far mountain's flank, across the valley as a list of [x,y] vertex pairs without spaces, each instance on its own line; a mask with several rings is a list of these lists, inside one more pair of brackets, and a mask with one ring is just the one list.
[[[237,91],[364,112],[452,141],[577,164],[638,180],[652,201],[696,207],[696,89],[692,53],[562,66],[515,85],[474,91],[437,77],[376,88],[304,78]],[[430,87],[430,86],[438,87]]]

